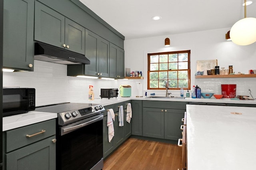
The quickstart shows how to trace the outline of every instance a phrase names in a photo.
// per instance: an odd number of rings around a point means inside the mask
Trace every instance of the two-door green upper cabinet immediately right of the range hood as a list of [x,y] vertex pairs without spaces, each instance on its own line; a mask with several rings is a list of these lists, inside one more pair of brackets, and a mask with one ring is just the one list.
[[86,29],[85,56],[90,65],[85,66],[85,74],[109,77],[109,42]]

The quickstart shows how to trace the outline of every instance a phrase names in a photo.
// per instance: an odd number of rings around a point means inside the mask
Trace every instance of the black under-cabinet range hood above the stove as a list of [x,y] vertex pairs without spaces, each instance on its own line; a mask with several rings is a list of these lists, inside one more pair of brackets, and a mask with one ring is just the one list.
[[34,45],[36,60],[65,65],[90,64],[90,60],[85,55],[40,42],[35,42]]

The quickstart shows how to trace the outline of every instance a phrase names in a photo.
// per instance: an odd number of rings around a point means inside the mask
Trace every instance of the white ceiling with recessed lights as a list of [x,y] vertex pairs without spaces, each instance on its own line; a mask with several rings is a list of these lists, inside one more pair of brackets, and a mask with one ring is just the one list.
[[[244,0],[80,0],[125,39],[231,28],[244,18]],[[249,0],[247,0],[249,1]],[[256,18],[256,0],[247,17]],[[161,16],[158,21],[152,16]]]

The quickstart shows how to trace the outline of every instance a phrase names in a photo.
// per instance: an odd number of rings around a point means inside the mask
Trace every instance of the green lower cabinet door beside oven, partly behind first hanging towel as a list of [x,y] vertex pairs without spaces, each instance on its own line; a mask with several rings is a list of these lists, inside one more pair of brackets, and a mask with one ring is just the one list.
[[103,118],[103,158],[106,158],[114,150],[113,139],[108,142],[107,116]]

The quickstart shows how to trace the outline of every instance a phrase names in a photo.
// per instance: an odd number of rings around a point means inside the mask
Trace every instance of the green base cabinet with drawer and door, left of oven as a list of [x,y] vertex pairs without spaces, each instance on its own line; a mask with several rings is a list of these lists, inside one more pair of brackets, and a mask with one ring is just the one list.
[[52,119],[5,131],[3,134],[4,169],[55,170],[55,128],[56,120]]

